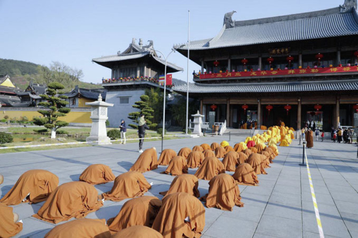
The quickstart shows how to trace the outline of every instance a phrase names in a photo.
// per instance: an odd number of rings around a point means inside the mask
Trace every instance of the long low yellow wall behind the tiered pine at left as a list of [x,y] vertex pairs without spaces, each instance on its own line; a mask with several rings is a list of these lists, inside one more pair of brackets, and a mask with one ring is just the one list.
[[[8,116],[9,119],[20,119],[20,117],[27,117],[29,120],[32,120],[33,117],[42,116],[36,111],[6,111],[0,110],[0,119],[4,119],[5,116]],[[92,120],[89,118],[90,112],[73,112],[71,111],[65,117],[61,117],[59,120],[63,120],[69,123],[92,123]]]

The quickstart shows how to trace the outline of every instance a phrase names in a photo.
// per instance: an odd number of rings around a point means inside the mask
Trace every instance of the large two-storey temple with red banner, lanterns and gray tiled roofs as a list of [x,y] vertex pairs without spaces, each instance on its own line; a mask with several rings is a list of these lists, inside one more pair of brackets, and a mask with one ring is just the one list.
[[[191,41],[193,73],[189,96],[200,100],[209,121],[246,121],[300,129],[306,121],[358,126],[357,0],[331,9],[235,21],[226,13],[211,39]],[[187,56],[188,45],[174,46]],[[185,94],[186,86],[174,91]],[[357,114],[357,115],[356,115]]]

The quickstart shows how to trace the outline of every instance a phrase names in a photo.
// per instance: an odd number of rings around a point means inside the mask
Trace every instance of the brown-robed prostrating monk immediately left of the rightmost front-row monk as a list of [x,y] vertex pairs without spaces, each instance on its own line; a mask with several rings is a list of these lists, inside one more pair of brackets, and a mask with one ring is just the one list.
[[152,227],[162,200],[153,196],[136,197],[126,201],[116,217],[107,221],[109,230],[119,232],[127,227]]

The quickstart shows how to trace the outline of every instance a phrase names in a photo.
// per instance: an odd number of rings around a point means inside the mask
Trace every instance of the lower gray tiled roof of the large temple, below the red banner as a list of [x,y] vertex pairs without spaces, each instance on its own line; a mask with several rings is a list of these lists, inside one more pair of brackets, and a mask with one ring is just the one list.
[[[186,92],[186,85],[175,86],[173,90],[176,92]],[[332,82],[189,84],[189,93],[278,93],[336,90],[358,90],[358,79]]]

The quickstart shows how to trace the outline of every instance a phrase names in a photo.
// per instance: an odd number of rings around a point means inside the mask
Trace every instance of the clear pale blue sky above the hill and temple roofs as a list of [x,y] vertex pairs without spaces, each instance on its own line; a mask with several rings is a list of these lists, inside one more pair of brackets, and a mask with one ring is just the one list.
[[[98,83],[110,69],[93,58],[124,51],[132,38],[154,41],[168,54],[173,44],[214,37],[226,12],[248,20],[337,7],[344,0],[0,0],[0,58],[49,65],[60,61],[84,71],[83,81]],[[169,61],[184,68],[173,75],[186,81],[186,58]],[[200,66],[189,64],[189,72]],[[190,79],[191,80],[191,79]]]

